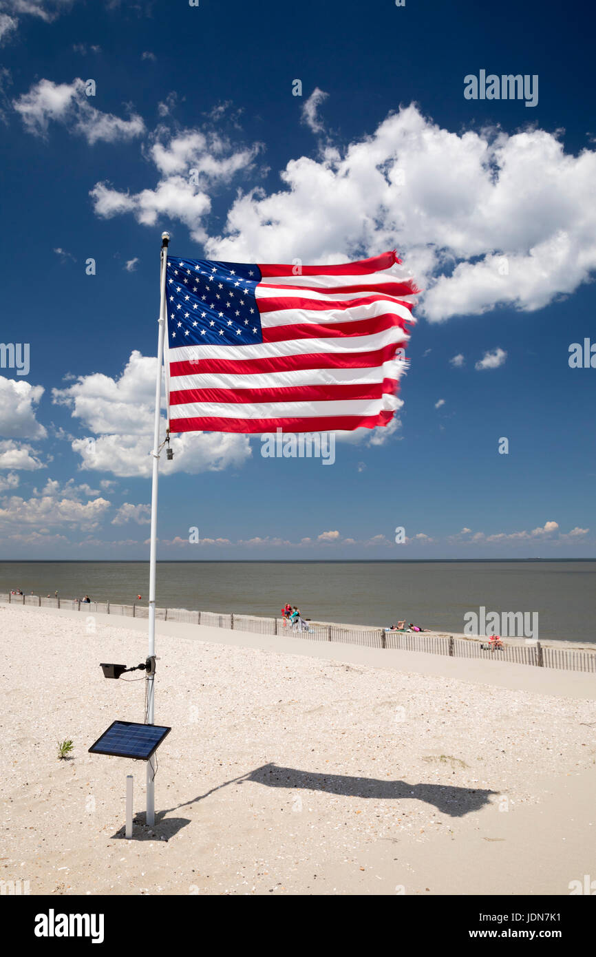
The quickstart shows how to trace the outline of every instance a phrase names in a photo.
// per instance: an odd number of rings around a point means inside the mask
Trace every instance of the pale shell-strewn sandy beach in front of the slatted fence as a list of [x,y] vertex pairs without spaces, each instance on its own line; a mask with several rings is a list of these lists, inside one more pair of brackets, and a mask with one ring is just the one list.
[[[155,827],[146,622],[0,608],[4,880],[36,894],[547,894],[596,875],[596,680],[158,622]],[[72,738],[74,757],[56,759]],[[137,823],[123,836],[126,774]]]

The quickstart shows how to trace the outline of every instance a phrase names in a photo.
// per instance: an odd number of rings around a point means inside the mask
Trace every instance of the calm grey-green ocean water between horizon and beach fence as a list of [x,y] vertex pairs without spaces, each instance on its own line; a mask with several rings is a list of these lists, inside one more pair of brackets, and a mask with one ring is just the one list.
[[[0,562],[0,591],[146,602],[146,562]],[[538,612],[539,636],[596,644],[596,562],[159,562],[159,607],[463,632],[466,612]]]

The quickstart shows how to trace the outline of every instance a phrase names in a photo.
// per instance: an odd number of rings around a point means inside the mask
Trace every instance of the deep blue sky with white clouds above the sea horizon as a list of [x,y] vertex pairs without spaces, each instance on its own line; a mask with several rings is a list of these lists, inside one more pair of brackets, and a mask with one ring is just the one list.
[[[176,439],[159,557],[593,556],[588,11],[0,0],[2,338],[30,345],[0,368],[0,557],[146,556],[164,229],[234,261],[396,247],[425,291],[395,426],[332,466]],[[538,104],[465,99],[480,70]]]

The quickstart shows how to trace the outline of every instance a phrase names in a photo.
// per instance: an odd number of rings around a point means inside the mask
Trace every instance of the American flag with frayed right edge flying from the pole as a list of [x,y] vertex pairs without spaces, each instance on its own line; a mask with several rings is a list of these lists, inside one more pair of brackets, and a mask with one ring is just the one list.
[[168,256],[170,432],[387,425],[417,292],[395,263],[395,252],[336,266]]

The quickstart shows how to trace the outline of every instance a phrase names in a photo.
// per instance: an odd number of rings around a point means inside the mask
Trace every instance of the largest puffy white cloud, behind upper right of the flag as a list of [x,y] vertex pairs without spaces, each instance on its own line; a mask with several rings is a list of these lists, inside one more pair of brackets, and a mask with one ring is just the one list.
[[430,322],[539,309],[596,268],[596,152],[567,154],[541,129],[453,133],[410,105],[279,175],[280,189],[238,194],[210,257],[342,262],[397,246]]

